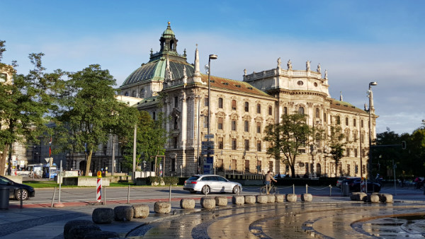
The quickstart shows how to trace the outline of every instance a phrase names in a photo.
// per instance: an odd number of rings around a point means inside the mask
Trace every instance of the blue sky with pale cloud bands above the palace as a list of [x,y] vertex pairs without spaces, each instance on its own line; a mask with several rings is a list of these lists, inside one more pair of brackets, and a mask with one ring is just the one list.
[[171,22],[177,51],[200,65],[217,54],[211,74],[242,81],[244,69],[293,69],[311,61],[328,70],[331,98],[363,109],[369,83],[377,133],[411,134],[425,119],[425,1],[16,1],[0,0],[1,62],[33,68],[42,52],[47,72],[100,64],[117,86],[159,51]]

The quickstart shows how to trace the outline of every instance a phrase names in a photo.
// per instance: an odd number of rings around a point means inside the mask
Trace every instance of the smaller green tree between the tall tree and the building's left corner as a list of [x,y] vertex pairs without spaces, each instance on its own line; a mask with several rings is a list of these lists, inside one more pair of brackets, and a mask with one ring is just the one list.
[[[167,137],[166,129],[162,127],[163,124],[164,117],[162,114],[159,114],[158,119],[154,120],[148,112],[143,110],[139,112],[139,120],[137,121],[136,168],[141,165],[142,161],[151,162],[154,161],[155,156],[164,155],[164,145],[166,144]],[[128,141],[124,148],[125,167],[129,170],[132,170],[133,139],[132,136],[131,141]]]

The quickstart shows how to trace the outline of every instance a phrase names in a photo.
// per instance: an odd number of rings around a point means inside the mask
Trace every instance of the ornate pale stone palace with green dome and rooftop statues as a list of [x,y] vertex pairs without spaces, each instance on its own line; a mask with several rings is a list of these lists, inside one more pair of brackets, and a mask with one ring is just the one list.
[[[304,113],[310,126],[328,134],[331,124],[339,124],[348,142],[338,167],[329,158],[326,139],[300,148],[297,175],[367,175],[368,135],[371,130],[375,137],[378,117],[373,104],[369,129],[368,110],[346,103],[342,97],[331,98],[327,71],[322,73],[320,65],[312,70],[307,61],[306,69],[295,70],[290,61],[281,66],[279,58],[273,69],[252,74],[244,70],[242,81],[210,76],[210,140],[214,143],[203,143],[208,140],[208,74],[200,73],[198,47],[195,62],[189,64],[186,49],[183,54],[177,52],[178,40],[170,24],[159,42],[159,52],[151,49],[149,62],[132,72],[119,92],[140,98],[137,108],[154,119],[159,112],[171,118],[165,125],[169,140],[164,146],[164,175],[256,174],[267,170],[288,174],[287,165],[266,153],[268,142],[263,138],[267,124],[279,122],[281,115],[292,112]],[[165,95],[163,104],[159,104],[159,92]],[[212,158],[205,155],[207,144],[214,145]]]

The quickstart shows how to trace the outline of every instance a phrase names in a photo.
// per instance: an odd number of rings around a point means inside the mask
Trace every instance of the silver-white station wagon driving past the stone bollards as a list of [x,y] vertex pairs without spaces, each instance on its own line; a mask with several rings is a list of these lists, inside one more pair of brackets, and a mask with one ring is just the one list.
[[232,192],[239,194],[242,192],[242,185],[239,182],[232,182],[219,175],[193,175],[184,181],[183,190],[191,193],[201,192]]

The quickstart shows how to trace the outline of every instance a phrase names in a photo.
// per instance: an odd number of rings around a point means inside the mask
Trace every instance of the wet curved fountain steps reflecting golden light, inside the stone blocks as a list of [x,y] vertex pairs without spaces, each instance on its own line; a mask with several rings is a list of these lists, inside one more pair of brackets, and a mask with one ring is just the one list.
[[425,205],[283,203],[217,207],[149,223],[131,238],[424,238]]

